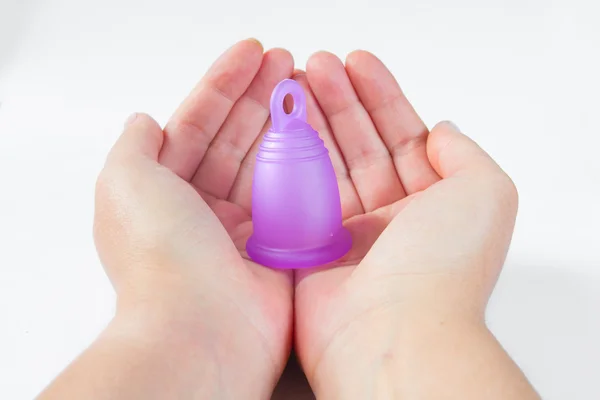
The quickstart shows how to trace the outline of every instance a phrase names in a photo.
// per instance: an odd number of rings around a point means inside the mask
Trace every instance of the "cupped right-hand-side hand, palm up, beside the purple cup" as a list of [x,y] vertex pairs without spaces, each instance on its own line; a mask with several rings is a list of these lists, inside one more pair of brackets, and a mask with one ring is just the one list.
[[[317,53],[296,79],[312,92],[309,122],[330,150],[354,244],[333,266],[296,272],[296,350],[317,396],[489,398],[461,383],[510,364],[484,311],[513,231],[512,181],[452,124],[429,133],[367,52],[345,67]],[[469,372],[463,354],[478,353],[465,341],[493,343]],[[515,374],[510,386],[491,373],[485,390],[516,398],[528,385]]]

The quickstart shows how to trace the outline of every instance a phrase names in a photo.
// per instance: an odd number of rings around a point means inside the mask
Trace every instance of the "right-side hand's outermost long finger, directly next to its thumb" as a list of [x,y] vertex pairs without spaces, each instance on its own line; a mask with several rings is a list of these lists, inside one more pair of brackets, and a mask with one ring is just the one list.
[[387,67],[371,53],[355,51],[346,58],[346,71],[392,156],[406,193],[437,182],[440,177],[427,159],[427,127]]

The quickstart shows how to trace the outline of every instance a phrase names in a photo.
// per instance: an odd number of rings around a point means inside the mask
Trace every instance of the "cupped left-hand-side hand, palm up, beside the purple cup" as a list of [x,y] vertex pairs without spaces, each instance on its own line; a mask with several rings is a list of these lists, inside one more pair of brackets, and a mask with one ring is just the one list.
[[116,319],[200,347],[234,398],[267,398],[291,347],[292,275],[243,249],[253,154],[271,91],[292,72],[287,51],[236,44],[164,132],[144,114],[128,122],[97,184],[95,240]]

